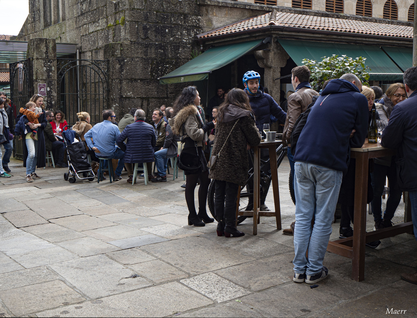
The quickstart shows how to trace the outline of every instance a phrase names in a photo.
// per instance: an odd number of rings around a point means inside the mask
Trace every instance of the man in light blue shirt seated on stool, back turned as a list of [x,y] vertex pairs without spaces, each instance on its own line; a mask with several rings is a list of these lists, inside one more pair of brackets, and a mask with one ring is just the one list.
[[98,158],[119,159],[114,180],[121,180],[121,173],[125,166],[125,153],[117,147],[117,138],[120,131],[117,125],[114,125],[116,116],[113,110],[103,111],[103,122],[95,124],[93,128],[85,133],[85,142],[90,149],[93,149]]

